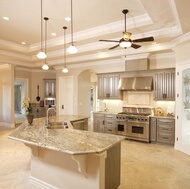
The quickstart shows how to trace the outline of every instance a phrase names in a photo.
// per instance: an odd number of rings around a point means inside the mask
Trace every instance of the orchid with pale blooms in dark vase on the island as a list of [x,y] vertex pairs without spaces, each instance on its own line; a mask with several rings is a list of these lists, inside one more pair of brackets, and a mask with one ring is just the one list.
[[24,97],[22,101],[22,108],[26,110],[28,123],[31,125],[33,122],[34,114],[32,112],[32,104],[30,102],[30,98]]

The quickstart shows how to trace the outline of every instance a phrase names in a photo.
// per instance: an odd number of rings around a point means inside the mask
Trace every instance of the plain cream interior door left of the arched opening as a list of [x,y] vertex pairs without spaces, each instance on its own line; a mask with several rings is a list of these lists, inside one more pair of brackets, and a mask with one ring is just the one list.
[[73,76],[59,77],[59,115],[73,114]]

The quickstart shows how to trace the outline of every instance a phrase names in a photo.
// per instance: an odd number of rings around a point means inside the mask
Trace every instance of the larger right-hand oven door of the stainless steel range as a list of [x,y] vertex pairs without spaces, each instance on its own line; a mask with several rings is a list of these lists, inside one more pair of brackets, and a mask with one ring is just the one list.
[[126,136],[127,138],[149,142],[149,123],[128,121]]

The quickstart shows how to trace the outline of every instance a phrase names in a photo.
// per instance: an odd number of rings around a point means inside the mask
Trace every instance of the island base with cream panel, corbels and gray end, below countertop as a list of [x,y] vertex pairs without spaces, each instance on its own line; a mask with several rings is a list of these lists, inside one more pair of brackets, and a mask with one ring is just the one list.
[[[101,154],[81,155],[30,147],[33,154],[31,183],[36,186],[46,189],[117,189],[120,184],[120,143]],[[77,162],[75,159],[81,159],[77,156],[82,156],[83,161]]]

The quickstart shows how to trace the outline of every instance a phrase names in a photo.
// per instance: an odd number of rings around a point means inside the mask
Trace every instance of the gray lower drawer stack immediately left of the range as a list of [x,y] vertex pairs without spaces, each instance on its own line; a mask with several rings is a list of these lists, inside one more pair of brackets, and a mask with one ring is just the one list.
[[104,121],[104,132],[115,134],[115,121],[116,115],[115,114],[105,114],[105,121]]

